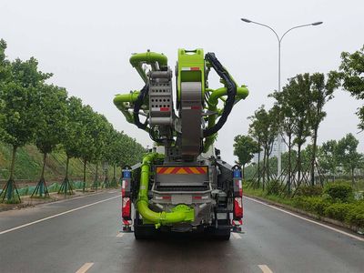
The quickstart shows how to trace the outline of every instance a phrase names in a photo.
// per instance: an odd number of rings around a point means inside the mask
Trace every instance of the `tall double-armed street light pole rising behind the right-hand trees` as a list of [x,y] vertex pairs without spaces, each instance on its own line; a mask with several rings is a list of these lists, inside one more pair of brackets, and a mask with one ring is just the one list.
[[[251,21],[247,18],[241,18],[241,21],[245,22],[245,23],[253,23],[253,24],[256,24],[256,25],[261,25],[261,26],[264,26],[264,27],[267,27],[269,28],[277,37],[277,40],[278,40],[278,92],[280,92],[280,48],[281,48],[281,43],[282,43],[282,40],[284,38],[285,35],[288,34],[288,32],[290,32],[291,30],[293,29],[296,29],[296,28],[300,28],[300,27],[305,27],[305,26],[310,26],[310,25],[321,25],[323,22],[315,22],[315,23],[311,23],[311,24],[305,24],[305,25],[296,25],[296,26],[293,26],[291,28],[289,28],[283,35],[281,35],[279,37],[279,35],[277,34],[277,32],[273,29],[273,27],[269,26],[269,25],[265,25],[265,24],[261,24],[261,23],[258,23],[258,22],[255,22],[255,21]],[[282,160],[281,160],[281,144],[282,144],[282,139],[281,139],[281,136],[278,136],[277,138],[277,145],[278,145],[278,177],[280,177],[280,174],[282,172]]]

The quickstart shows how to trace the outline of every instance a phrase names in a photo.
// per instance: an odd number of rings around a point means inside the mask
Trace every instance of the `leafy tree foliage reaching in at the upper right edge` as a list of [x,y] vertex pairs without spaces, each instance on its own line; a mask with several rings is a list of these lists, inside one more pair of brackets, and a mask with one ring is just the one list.
[[[343,86],[351,96],[364,99],[364,45],[360,50],[350,54],[341,53],[341,65],[339,71],[343,79]],[[364,106],[358,109],[360,130],[364,130]]]

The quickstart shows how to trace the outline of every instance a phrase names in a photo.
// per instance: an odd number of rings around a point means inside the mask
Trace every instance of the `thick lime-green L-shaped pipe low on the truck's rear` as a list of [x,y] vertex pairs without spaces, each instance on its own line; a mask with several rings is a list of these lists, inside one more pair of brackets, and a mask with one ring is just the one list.
[[153,160],[157,158],[157,156],[157,153],[150,153],[143,158],[139,192],[136,199],[137,211],[140,213],[143,219],[155,224],[156,227],[160,227],[161,225],[193,221],[195,218],[195,211],[193,208],[187,207],[186,205],[178,205],[177,207],[174,207],[171,212],[155,212],[149,208],[147,191],[150,165]]

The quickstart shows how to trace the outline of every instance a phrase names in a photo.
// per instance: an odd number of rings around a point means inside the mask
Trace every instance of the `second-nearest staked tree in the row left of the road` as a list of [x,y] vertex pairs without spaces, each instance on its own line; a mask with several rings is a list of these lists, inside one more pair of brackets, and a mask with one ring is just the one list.
[[40,197],[49,196],[45,184],[46,157],[65,137],[63,128],[66,125],[66,89],[53,85],[43,85],[39,86],[38,92],[40,110],[37,112],[35,145],[43,154],[43,167],[32,197],[37,195]]

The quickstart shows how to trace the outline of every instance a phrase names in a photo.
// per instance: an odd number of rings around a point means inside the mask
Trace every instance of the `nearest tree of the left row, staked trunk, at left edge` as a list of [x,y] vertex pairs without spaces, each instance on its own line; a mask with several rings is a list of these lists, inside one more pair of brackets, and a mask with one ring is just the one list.
[[1,84],[0,116],[3,120],[1,137],[12,147],[12,160],[10,176],[1,195],[3,201],[6,198],[7,202],[20,202],[14,180],[16,150],[34,140],[40,111],[38,88],[52,75],[39,71],[34,57],[26,61],[16,59],[9,69],[11,76]]

